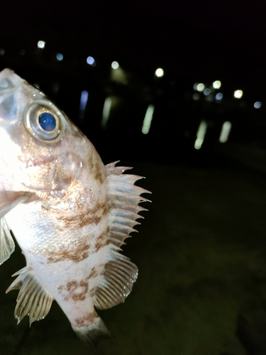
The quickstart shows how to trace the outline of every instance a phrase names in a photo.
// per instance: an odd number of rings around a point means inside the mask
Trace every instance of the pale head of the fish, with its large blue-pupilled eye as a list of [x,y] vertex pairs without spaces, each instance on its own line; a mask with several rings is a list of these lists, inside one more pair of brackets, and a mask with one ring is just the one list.
[[12,70],[0,72],[0,174],[9,186],[63,190],[82,171],[90,146],[43,92]]

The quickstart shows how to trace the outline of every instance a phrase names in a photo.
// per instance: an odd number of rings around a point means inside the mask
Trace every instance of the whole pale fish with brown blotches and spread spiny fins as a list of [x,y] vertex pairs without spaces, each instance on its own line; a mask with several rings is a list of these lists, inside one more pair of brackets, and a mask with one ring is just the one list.
[[124,302],[138,268],[121,253],[147,211],[131,168],[104,165],[87,136],[37,87],[0,72],[0,264],[16,238],[26,266],[14,315],[42,320],[52,301],[85,342],[109,337],[97,315]]

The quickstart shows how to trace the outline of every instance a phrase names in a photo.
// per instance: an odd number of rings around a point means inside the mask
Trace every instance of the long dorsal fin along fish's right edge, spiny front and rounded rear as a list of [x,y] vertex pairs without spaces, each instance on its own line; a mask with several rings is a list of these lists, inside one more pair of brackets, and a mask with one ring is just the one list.
[[138,206],[140,202],[148,201],[140,195],[150,193],[134,185],[142,177],[123,175],[125,170],[131,168],[116,166],[116,163],[118,162],[106,165],[110,206],[107,238],[111,250],[94,296],[94,305],[99,309],[118,305],[131,293],[133,283],[138,277],[138,268],[119,251],[124,244],[123,241],[128,238],[131,231],[135,231],[133,226],[139,224],[136,219],[143,218],[138,212],[147,210]]

